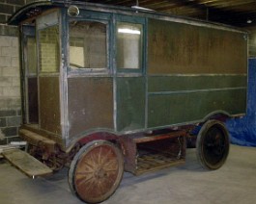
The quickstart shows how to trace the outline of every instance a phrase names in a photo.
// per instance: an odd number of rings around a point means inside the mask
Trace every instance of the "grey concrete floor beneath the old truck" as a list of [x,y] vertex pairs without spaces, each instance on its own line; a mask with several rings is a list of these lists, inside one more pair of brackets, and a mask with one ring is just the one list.
[[[71,194],[67,169],[32,180],[0,161],[0,203],[79,204]],[[256,203],[256,148],[231,145],[224,166],[207,171],[187,149],[186,164],[135,177],[124,174],[117,191],[103,204]]]

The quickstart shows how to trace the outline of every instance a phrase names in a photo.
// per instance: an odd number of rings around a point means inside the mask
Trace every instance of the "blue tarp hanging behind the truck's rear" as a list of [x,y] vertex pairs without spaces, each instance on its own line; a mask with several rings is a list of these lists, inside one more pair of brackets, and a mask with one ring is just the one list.
[[226,126],[232,143],[256,146],[256,59],[249,59],[246,115],[228,120]]

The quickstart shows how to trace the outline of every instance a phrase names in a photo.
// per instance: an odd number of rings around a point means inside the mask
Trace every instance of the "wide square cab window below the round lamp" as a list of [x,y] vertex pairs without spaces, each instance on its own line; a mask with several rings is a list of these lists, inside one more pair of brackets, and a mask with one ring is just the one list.
[[71,70],[107,68],[107,24],[70,22],[70,67]]

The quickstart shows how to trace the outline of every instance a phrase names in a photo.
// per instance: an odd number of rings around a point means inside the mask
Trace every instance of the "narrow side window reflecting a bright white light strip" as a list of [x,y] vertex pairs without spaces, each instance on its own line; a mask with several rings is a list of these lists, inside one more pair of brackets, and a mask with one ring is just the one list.
[[119,69],[139,69],[142,67],[141,24],[117,23],[117,67]]

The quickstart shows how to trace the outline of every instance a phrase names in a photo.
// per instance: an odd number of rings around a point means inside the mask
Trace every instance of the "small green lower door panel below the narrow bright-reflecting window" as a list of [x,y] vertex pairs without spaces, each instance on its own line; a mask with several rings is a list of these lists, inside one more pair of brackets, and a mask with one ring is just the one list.
[[145,128],[145,78],[117,78],[117,129]]

